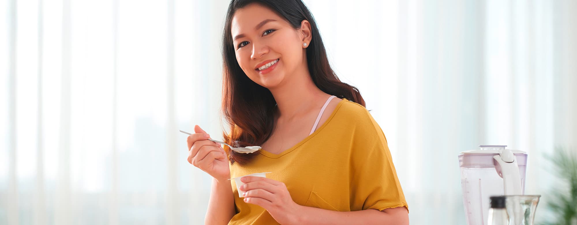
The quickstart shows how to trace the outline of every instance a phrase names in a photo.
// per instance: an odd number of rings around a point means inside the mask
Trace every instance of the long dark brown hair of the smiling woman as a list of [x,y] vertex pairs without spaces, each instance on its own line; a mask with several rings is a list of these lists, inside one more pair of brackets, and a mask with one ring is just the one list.
[[[223,57],[223,93],[222,113],[230,133],[223,132],[224,141],[233,147],[261,145],[271,137],[275,127],[275,113],[278,110],[272,93],[265,87],[254,83],[238,65],[231,34],[231,21],[234,13],[250,3],[259,3],[278,13],[294,29],[301,28],[301,22],[308,20],[312,40],[306,48],[310,76],[321,91],[338,98],[346,98],[365,106],[358,89],[342,83],[332,70],[327,59],[323,40],[317,29],[313,15],[301,0],[233,0],[228,5],[226,24],[222,38]],[[250,162],[258,152],[237,153],[230,151],[231,164]]]

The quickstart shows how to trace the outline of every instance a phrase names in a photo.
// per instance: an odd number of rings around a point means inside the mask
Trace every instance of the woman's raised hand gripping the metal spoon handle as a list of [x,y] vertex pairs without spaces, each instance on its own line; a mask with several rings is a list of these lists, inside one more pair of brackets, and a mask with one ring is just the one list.
[[200,126],[194,126],[194,134],[186,138],[188,162],[222,181],[230,178],[228,158],[219,143],[209,141],[210,136]]

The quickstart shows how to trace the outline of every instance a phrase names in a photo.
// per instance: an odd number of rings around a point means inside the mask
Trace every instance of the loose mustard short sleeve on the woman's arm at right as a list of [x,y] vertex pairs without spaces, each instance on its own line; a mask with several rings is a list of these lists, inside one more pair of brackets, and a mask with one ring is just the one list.
[[357,123],[350,159],[351,209],[408,209],[383,131],[368,111]]

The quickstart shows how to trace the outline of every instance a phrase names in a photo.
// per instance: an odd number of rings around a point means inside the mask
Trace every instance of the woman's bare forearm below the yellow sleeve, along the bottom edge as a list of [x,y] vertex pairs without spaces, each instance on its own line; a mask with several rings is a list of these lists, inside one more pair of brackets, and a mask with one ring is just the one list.
[[338,212],[301,206],[299,224],[409,224],[406,213],[387,213],[377,209]]

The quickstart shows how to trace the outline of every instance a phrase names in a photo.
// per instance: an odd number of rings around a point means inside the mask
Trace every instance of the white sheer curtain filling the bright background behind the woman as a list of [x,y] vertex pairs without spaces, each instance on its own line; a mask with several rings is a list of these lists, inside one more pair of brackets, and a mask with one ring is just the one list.
[[[226,1],[0,3],[0,224],[201,224],[185,134],[222,132]],[[305,1],[383,128],[411,224],[464,224],[456,155],[577,142],[575,1]],[[313,43],[314,44],[314,43]],[[575,150],[574,150],[575,151]],[[537,219],[545,218],[540,204]]]

